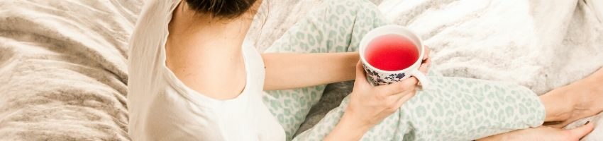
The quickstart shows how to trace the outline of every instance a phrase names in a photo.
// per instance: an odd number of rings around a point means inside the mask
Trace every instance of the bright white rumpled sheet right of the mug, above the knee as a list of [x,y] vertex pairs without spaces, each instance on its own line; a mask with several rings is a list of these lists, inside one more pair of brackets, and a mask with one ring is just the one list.
[[[386,0],[380,8],[394,23],[425,39],[433,49],[434,69],[443,75],[518,82],[544,94],[603,66],[602,4]],[[600,115],[589,118],[597,128],[583,140],[603,139]]]

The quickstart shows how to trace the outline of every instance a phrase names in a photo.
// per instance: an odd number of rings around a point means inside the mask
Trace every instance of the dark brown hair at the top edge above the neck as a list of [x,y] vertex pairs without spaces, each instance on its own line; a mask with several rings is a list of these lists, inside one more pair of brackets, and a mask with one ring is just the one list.
[[236,18],[247,12],[256,0],[186,0],[194,11],[216,18]]

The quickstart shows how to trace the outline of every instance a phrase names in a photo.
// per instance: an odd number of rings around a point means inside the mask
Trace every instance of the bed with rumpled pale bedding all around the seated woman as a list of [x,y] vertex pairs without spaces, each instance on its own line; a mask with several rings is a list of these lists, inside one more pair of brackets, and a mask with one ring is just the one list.
[[[320,0],[270,1],[248,33],[264,51]],[[516,82],[538,94],[603,66],[597,0],[373,0],[417,32],[446,76]],[[144,1],[0,1],[0,140],[130,140],[127,44]],[[350,92],[328,85],[300,125]],[[576,121],[566,128],[603,115]],[[602,140],[603,125],[582,140]]]

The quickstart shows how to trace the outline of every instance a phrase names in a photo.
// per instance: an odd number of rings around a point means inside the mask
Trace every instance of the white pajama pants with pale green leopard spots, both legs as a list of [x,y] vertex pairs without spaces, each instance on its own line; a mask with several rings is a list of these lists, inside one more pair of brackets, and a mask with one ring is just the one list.
[[[265,52],[357,51],[360,39],[368,31],[387,24],[370,1],[326,0]],[[365,133],[362,140],[476,140],[536,127],[544,121],[543,104],[526,87],[437,75],[429,75],[428,79],[429,90],[417,92],[394,114]],[[313,128],[293,137],[324,89],[325,85],[319,85],[266,92],[263,100],[284,128],[287,140],[322,140],[337,125],[348,97]]]

